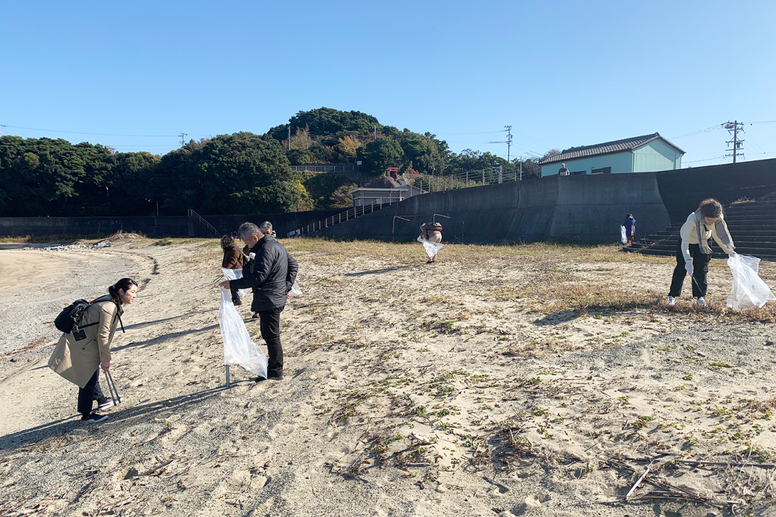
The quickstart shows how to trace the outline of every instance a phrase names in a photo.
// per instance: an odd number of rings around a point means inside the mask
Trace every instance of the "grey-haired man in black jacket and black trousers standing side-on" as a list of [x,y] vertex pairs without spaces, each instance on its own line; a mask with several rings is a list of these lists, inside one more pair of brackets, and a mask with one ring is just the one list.
[[[272,223],[262,222],[258,228],[252,222],[244,222],[237,236],[250,249],[250,259],[243,266],[242,278],[221,282],[223,288],[253,291],[251,310],[259,318],[262,338],[267,343],[267,378],[280,381],[283,378],[283,349],[280,344],[280,313],[286,307],[288,293],[293,287],[299,264],[285,247],[272,237]],[[264,381],[257,377],[256,381]]]

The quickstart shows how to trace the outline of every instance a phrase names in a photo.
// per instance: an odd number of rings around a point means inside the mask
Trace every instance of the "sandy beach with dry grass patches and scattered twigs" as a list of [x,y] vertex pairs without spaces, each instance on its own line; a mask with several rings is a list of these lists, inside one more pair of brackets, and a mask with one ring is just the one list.
[[[216,240],[0,250],[0,513],[776,515],[776,310],[726,309],[723,260],[669,308],[674,259],[617,246],[281,242],[286,379],[228,390]],[[87,426],[51,322],[124,276]]]

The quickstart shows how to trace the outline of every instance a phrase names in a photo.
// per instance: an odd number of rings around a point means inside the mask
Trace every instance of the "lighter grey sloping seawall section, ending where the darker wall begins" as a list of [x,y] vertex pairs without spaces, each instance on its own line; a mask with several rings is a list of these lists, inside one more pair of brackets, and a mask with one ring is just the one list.
[[639,221],[639,234],[668,226],[670,219],[655,174],[556,176],[432,192],[325,228],[317,235],[411,239],[417,237],[421,222],[431,220],[431,214],[441,214],[452,218],[437,218],[445,228],[446,242],[547,238],[615,242],[629,212]]

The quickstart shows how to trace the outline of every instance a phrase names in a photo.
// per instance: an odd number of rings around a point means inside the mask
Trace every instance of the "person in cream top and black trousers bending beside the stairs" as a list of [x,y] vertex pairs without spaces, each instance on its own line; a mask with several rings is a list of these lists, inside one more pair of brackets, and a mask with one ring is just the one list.
[[668,305],[671,307],[681,295],[684,277],[688,274],[692,283],[692,295],[698,298],[698,307],[706,305],[705,295],[708,288],[706,274],[708,273],[708,261],[712,258],[712,249],[708,246],[708,240],[714,240],[722,248],[722,251],[732,256],[736,253],[736,246],[730,237],[724,216],[722,205],[716,199],[704,199],[698,210],[688,215],[680,230],[681,239],[677,244],[677,265],[674,267],[674,277],[671,279],[671,288],[668,292]]

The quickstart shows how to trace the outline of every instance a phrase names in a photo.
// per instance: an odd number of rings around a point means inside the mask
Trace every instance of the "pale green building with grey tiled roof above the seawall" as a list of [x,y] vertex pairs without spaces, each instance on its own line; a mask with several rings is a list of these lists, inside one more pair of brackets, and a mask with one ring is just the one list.
[[539,160],[542,178],[559,174],[565,164],[569,174],[619,174],[681,169],[684,151],[660,133],[634,136],[593,146],[570,147]]

